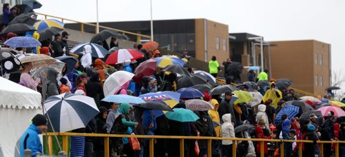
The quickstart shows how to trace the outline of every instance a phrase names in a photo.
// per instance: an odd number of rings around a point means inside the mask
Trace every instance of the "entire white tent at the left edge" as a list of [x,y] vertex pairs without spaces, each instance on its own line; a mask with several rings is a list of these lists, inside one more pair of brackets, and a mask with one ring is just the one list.
[[[42,113],[41,94],[0,77],[0,152],[14,156],[17,140],[31,124],[34,115]],[[1,156],[1,154],[0,154]]]

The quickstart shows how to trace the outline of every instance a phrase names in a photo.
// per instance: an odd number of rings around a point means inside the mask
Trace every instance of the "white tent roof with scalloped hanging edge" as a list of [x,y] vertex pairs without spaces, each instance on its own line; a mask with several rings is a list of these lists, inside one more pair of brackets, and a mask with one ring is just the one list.
[[0,77],[0,106],[19,109],[38,108],[41,106],[41,94]]

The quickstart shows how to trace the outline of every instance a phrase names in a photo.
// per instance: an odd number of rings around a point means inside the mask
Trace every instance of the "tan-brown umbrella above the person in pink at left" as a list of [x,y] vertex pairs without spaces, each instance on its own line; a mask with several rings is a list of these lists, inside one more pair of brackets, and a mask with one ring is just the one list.
[[32,68],[37,68],[53,64],[56,60],[53,59],[51,56],[47,56],[46,54],[36,54],[31,56],[25,56],[20,61],[21,63],[32,62]]

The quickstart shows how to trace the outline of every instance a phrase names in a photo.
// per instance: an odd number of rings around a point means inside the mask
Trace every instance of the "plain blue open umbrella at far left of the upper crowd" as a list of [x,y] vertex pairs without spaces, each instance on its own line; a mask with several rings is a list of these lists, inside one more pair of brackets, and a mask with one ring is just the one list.
[[27,36],[16,36],[8,39],[3,44],[9,45],[12,48],[34,48],[41,45],[36,39]]

